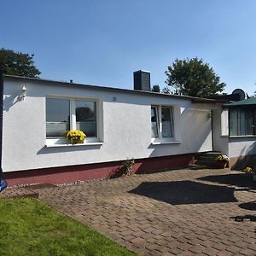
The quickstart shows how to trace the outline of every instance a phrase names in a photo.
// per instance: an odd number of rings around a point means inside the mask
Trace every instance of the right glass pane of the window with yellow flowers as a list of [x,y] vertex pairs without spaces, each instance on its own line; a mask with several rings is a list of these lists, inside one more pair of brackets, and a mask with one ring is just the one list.
[[76,129],[87,137],[96,136],[96,102],[76,101]]

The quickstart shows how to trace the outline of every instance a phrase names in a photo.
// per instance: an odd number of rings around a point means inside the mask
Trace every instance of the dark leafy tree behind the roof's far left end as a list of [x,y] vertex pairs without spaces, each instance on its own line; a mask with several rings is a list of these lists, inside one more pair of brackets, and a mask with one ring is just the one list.
[[0,73],[39,78],[41,72],[35,67],[33,56],[12,49],[0,49]]

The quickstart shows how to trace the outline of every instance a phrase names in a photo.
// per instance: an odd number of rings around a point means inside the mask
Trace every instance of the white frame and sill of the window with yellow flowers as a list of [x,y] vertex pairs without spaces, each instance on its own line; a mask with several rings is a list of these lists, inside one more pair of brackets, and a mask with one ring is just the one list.
[[[46,106],[46,99],[59,99],[59,100],[68,100],[69,101],[69,122],[70,122],[70,130],[76,130],[76,101],[84,101],[84,102],[96,102],[96,137],[86,137],[84,143],[79,144],[70,144],[65,137],[46,137],[46,146],[47,147],[58,147],[62,145],[73,145],[73,146],[81,146],[81,145],[97,145],[102,144],[100,142],[101,134],[101,111],[100,111],[100,100],[99,99],[92,99],[92,98],[78,98],[78,97],[67,97],[67,96],[46,96],[45,97],[45,106]],[[46,112],[45,112],[46,115]],[[45,116],[46,119],[46,116]],[[46,131],[45,131],[46,136]]]

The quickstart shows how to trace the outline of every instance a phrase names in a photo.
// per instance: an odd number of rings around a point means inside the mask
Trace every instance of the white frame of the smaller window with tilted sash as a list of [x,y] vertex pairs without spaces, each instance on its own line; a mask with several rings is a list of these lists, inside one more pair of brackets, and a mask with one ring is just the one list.
[[[175,133],[174,133],[174,114],[173,114],[173,107],[172,106],[166,106],[166,105],[151,105],[151,108],[156,108],[157,111],[157,127],[158,127],[158,136],[159,137],[151,137],[151,143],[173,143],[175,142]],[[151,111],[150,108],[150,111]],[[171,125],[172,125],[172,137],[163,137],[163,131],[162,131],[162,108],[169,108],[170,116],[171,116]],[[150,123],[151,125],[151,123]],[[152,134],[152,131],[151,131]]]

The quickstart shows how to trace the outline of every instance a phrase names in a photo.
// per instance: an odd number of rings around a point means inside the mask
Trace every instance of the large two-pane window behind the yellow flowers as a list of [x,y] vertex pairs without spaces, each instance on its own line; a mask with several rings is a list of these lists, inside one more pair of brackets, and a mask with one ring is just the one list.
[[46,98],[46,137],[65,137],[69,130],[97,137],[96,102]]

